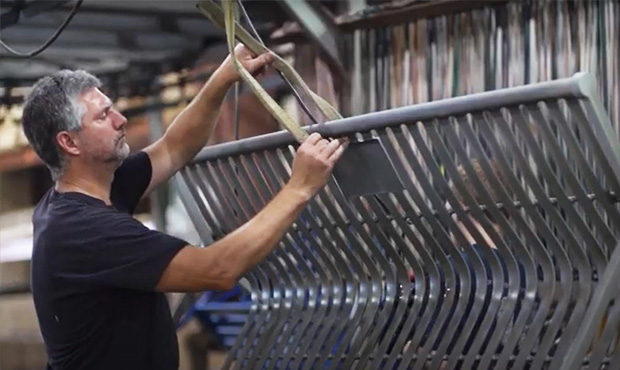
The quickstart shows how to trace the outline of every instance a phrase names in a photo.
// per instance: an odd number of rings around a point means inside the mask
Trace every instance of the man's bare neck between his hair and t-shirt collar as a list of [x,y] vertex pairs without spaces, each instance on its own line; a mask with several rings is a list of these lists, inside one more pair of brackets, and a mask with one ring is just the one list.
[[102,200],[110,205],[110,187],[114,180],[114,171],[110,169],[94,170],[76,167],[67,168],[56,180],[54,189],[61,193],[78,192]]

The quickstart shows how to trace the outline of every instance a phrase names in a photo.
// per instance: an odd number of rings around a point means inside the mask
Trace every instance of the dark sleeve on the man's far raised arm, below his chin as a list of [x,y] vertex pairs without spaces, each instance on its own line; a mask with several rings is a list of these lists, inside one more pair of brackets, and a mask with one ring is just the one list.
[[133,214],[140,198],[151,183],[153,168],[145,152],[132,154],[116,169],[110,200],[119,211]]

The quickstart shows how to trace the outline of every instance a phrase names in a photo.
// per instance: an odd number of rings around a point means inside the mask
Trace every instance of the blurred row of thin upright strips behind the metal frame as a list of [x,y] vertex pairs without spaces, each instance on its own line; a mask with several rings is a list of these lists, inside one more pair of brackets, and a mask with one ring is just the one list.
[[[354,114],[588,71],[620,135],[620,3],[511,1],[357,31]],[[350,50],[353,53],[354,50]],[[361,92],[361,93],[360,93]]]

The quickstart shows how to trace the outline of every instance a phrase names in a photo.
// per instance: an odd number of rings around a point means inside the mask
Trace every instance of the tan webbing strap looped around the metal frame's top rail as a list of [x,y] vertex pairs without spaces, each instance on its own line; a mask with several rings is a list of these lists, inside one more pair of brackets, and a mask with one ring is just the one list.
[[320,96],[316,95],[310,90],[308,85],[303,81],[299,74],[281,57],[273,53],[271,50],[263,46],[256,39],[254,39],[239,23],[234,20],[234,0],[223,0],[223,10],[217,4],[211,0],[202,0],[198,3],[198,9],[213,22],[214,24],[226,29],[226,38],[228,42],[229,51],[233,57],[233,61],[237,71],[241,78],[250,85],[250,88],[261,103],[271,112],[276,120],[299,142],[303,141],[307,137],[307,132],[302,129],[297,122],[282,109],[278,103],[267,94],[262,86],[256,81],[256,79],[243,67],[243,65],[236,59],[234,54],[235,35],[239,40],[245,44],[253,53],[259,55],[270,52],[275,56],[273,67],[282,72],[286,78],[291,81],[298,89],[298,92],[304,99],[314,104],[329,120],[336,120],[342,118],[340,113],[332,107],[327,101]]

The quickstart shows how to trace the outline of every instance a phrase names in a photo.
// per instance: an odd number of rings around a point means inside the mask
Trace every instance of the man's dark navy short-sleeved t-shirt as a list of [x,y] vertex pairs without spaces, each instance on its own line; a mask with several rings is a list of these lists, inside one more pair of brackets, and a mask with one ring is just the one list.
[[155,291],[187,243],[133,213],[152,174],[144,152],[117,169],[112,206],[50,190],[34,216],[32,293],[48,369],[177,369],[168,302]]

